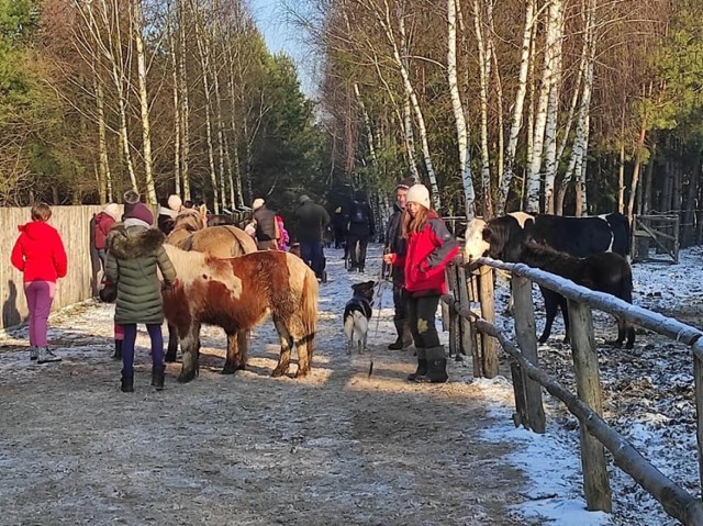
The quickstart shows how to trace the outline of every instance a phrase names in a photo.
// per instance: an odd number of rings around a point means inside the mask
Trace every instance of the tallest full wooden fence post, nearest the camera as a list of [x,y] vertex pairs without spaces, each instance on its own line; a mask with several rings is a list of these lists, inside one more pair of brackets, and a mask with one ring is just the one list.
[[[603,415],[603,396],[598,368],[598,355],[593,338],[591,307],[573,300],[569,305],[569,338],[576,370],[577,393],[595,413]],[[583,493],[589,511],[611,513],[611,485],[607,478],[605,450],[592,437],[585,426],[580,425],[581,466],[583,468]]]

